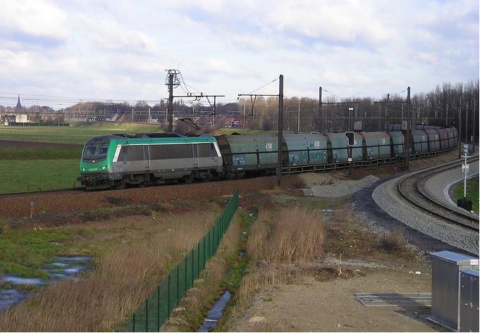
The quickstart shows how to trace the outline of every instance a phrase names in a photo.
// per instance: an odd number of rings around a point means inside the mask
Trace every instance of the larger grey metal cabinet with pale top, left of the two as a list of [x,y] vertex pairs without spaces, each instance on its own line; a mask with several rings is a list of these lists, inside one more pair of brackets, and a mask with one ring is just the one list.
[[461,253],[431,253],[431,316],[452,329],[460,329],[460,270],[478,268],[479,258]]

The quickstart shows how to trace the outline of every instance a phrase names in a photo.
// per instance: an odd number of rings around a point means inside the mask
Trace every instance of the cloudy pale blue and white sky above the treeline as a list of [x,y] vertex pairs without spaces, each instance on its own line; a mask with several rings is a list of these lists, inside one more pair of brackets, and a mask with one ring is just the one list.
[[161,99],[167,68],[224,102],[280,74],[286,96],[426,92],[479,78],[479,3],[1,1],[0,104],[7,93]]

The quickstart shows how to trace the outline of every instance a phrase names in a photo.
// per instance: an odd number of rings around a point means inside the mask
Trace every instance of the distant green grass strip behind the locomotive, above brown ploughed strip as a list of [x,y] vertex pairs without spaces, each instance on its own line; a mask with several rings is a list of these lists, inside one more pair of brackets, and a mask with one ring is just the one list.
[[92,138],[106,134],[164,132],[159,125],[98,122],[92,125],[78,123],[72,126],[0,126],[0,139],[85,144]]

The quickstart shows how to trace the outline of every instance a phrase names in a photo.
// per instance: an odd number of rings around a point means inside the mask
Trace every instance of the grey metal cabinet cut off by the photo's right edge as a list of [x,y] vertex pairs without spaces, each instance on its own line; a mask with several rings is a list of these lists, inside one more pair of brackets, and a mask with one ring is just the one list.
[[478,270],[460,270],[460,332],[479,332]]

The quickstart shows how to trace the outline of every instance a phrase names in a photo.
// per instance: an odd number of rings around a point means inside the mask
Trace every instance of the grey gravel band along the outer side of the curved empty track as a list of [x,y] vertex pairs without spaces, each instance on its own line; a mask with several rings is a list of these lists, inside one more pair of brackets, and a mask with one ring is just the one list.
[[388,215],[403,224],[457,249],[478,255],[479,232],[467,230],[459,225],[438,220],[431,215],[418,211],[397,195],[398,182],[403,177],[405,175],[383,182],[376,187],[372,193],[375,203]]

